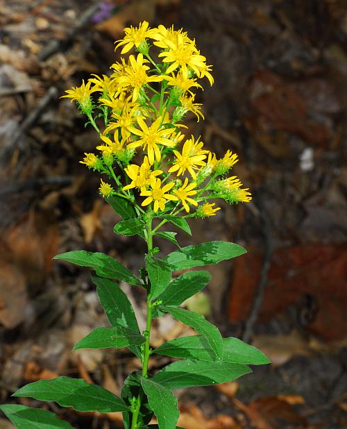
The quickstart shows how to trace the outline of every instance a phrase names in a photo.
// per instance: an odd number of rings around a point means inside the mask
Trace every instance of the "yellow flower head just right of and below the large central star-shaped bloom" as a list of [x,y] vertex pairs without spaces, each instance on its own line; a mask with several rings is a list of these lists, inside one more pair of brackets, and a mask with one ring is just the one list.
[[194,142],[194,136],[187,140],[185,144],[183,144],[182,153],[178,151],[174,151],[176,155],[175,164],[169,169],[169,173],[173,173],[177,171],[177,176],[181,176],[185,174],[185,171],[188,170],[192,178],[196,179],[196,173],[194,170],[200,169],[205,165],[206,153],[202,149],[203,142],[199,142],[198,140]]

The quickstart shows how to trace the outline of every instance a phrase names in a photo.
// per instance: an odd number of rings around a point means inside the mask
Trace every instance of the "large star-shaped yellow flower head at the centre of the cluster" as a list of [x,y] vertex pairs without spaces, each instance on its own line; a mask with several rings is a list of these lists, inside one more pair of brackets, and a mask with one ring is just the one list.
[[142,117],[137,117],[137,122],[141,130],[133,127],[130,127],[129,129],[131,133],[139,136],[139,140],[128,144],[128,148],[135,149],[138,146],[142,146],[142,149],[147,150],[149,162],[152,165],[154,163],[154,158],[157,161],[160,161],[162,157],[158,144],[162,144],[163,146],[174,146],[174,143],[167,138],[169,135],[171,135],[171,133],[174,132],[174,129],[161,128],[161,116],[155,119],[153,124],[151,124],[149,127]]

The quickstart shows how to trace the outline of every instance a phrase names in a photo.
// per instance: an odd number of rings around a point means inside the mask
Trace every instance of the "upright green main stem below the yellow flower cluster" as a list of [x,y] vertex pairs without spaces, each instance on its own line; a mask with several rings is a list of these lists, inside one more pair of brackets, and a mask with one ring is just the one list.
[[[151,213],[148,213],[148,218],[146,222],[146,242],[149,254],[151,254],[151,251],[153,249],[153,231],[152,231],[152,216]],[[151,322],[152,322],[152,312],[153,312],[153,304],[151,303],[151,289],[149,281],[147,283],[147,299],[146,299],[146,305],[147,305],[147,317],[146,317],[146,330],[144,332],[146,341],[144,342],[144,354],[143,354],[143,360],[142,360],[142,377],[147,377],[147,372],[149,369],[149,355],[151,354],[150,350],[150,337],[151,337]],[[141,407],[141,402],[143,398],[143,392],[142,390],[139,392],[139,396],[137,396],[137,404],[135,407],[135,410],[133,411],[133,419],[131,420],[131,429],[137,429],[137,419],[139,417],[139,409]]]

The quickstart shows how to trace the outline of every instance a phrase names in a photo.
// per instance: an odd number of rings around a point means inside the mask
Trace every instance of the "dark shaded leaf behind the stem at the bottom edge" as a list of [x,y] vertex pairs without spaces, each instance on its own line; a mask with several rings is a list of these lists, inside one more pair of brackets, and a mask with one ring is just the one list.
[[[139,425],[145,426],[151,421],[153,417],[153,410],[151,410],[147,396],[144,394],[144,389],[142,389],[141,374],[142,371],[135,371],[124,380],[124,387],[121,390],[121,398],[126,403],[126,405],[129,405],[130,407],[131,398],[138,398],[139,394],[142,395],[137,423]],[[124,426],[126,429],[130,429],[131,415],[131,412],[123,412]]]

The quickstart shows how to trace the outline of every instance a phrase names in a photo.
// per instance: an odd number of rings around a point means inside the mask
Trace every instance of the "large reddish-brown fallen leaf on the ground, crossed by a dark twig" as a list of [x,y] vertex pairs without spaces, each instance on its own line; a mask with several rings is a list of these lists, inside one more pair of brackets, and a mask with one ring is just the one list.
[[[230,321],[244,321],[251,310],[262,256],[250,251],[238,258],[229,301]],[[298,322],[325,341],[346,337],[347,251],[344,245],[305,244],[278,249],[271,260],[259,321],[266,322],[289,306],[298,307]],[[303,297],[313,313],[301,308]]]

